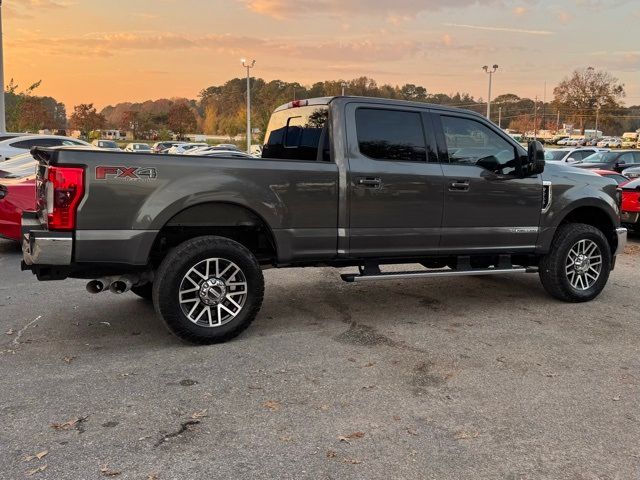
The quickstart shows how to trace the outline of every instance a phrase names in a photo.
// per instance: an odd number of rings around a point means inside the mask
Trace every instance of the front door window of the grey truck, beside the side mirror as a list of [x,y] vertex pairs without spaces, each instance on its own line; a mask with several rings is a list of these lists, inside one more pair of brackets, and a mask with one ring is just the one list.
[[441,116],[449,162],[476,165],[508,175],[516,169],[516,150],[486,125],[470,118]]

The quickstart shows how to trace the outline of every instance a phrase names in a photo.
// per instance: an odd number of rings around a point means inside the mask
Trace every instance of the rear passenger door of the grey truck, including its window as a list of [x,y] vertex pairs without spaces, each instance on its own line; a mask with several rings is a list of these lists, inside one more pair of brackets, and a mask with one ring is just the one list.
[[351,255],[437,252],[444,190],[428,115],[350,103],[346,118]]

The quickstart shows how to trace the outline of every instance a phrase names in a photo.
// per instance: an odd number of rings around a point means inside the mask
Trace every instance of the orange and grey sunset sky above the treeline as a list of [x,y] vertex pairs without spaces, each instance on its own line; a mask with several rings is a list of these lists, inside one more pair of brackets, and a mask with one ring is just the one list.
[[[638,0],[5,0],[5,83],[70,111],[196,98],[252,74],[268,80],[374,78],[429,93],[552,97],[576,68],[618,77],[640,104]],[[19,89],[20,90],[20,89]]]

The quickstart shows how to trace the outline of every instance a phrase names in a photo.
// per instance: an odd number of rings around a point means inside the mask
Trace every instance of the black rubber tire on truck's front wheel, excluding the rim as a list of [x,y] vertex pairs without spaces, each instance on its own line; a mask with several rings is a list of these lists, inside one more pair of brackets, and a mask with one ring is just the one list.
[[[593,241],[602,256],[600,275],[586,290],[574,288],[566,273],[569,252],[580,240]],[[597,297],[607,284],[611,272],[611,259],[611,247],[602,231],[584,223],[567,223],[558,228],[551,251],[540,260],[540,280],[545,290],[559,300],[572,303],[588,302]]]

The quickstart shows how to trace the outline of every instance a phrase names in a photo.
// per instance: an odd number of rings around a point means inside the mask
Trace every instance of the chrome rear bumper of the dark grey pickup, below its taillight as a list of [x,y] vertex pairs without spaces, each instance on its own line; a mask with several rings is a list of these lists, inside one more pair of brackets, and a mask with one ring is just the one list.
[[26,265],[71,265],[73,234],[42,230],[34,212],[22,215],[22,258]]

